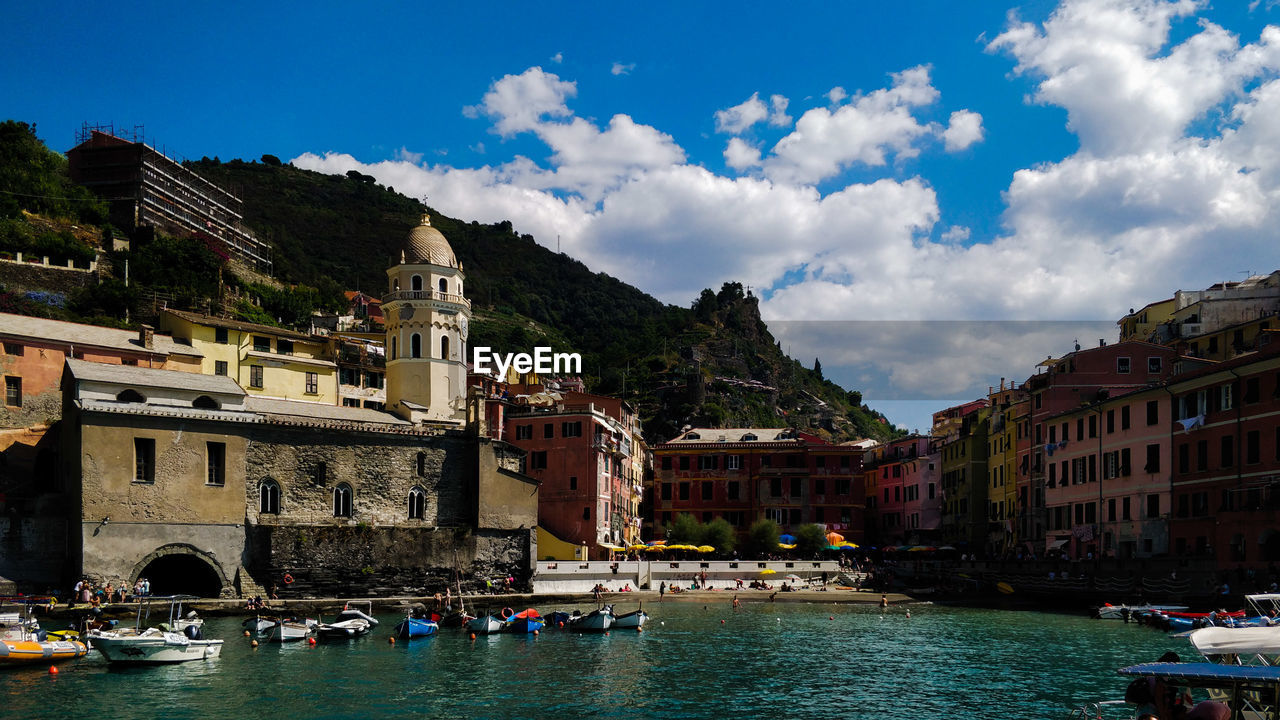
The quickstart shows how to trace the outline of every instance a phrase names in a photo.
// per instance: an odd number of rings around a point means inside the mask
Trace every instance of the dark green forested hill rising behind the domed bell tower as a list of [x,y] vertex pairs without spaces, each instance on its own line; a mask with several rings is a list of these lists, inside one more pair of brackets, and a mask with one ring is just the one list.
[[[246,224],[275,245],[276,274],[287,282],[323,287],[330,278],[379,295],[388,263],[422,211],[356,172],[328,176],[271,156],[191,165],[244,199]],[[632,401],[650,441],[685,424],[794,425],[837,441],[895,434],[860,393],[786,357],[756,299],[737,283],[703,291],[691,309],[664,305],[518,234],[509,222],[428,211],[466,269],[472,345],[511,351],[545,340],[581,352],[591,389]]]

